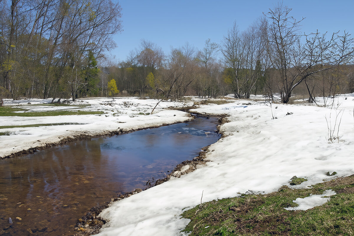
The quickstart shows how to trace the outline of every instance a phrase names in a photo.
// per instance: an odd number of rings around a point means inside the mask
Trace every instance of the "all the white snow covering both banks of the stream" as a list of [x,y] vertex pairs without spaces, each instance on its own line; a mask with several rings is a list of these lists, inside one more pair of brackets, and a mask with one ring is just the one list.
[[[98,235],[183,235],[180,230],[189,220],[181,218],[180,214],[201,201],[250,191],[269,193],[282,185],[289,185],[293,176],[308,179],[296,186],[306,188],[323,180],[354,173],[354,94],[337,96],[330,107],[307,104],[270,106],[261,97],[253,99],[258,102],[228,99],[232,103],[201,105],[192,110],[202,114],[228,115],[229,122],[221,126],[225,137],[212,144],[207,153],[206,157],[211,162],[181,178],[172,177],[170,181],[114,202],[100,215],[109,222]],[[87,99],[84,102],[92,104],[85,109],[109,112],[101,116],[0,117],[1,125],[85,123],[12,128],[18,134],[0,136],[0,156],[11,152],[11,145],[15,150],[22,150],[31,145],[38,146],[38,140],[57,142],[59,136],[182,122],[190,119],[186,113],[163,111],[162,108],[192,105],[193,99],[190,104],[161,102],[158,112],[148,116],[138,114],[151,112],[156,100],[124,98],[116,100],[113,105],[105,105],[104,99]],[[73,105],[80,104],[82,102]],[[329,134],[339,137],[339,140],[329,141]],[[337,172],[335,176],[326,175],[326,172],[334,171]]]

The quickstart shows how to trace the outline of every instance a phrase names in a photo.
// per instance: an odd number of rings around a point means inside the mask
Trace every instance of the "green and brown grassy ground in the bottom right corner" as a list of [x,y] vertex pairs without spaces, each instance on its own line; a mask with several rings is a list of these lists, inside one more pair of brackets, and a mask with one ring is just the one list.
[[[297,197],[336,195],[322,206],[307,211],[287,211]],[[183,230],[189,235],[354,235],[354,176],[312,185],[310,189],[281,187],[265,194],[244,194],[202,203],[182,214],[191,219]]]

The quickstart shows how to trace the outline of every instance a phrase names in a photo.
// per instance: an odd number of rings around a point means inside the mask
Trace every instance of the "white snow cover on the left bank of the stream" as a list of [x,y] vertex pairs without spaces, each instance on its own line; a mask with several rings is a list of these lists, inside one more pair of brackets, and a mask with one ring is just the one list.
[[[30,104],[28,104],[30,102]],[[71,102],[72,106],[36,106],[51,102],[51,99],[5,100],[5,106],[16,106],[25,112],[42,111],[101,111],[101,115],[66,115],[44,117],[0,117],[0,126],[20,126],[35,124],[65,124],[46,125],[39,127],[18,127],[0,129],[0,157],[27,150],[46,143],[58,143],[64,138],[74,138],[81,135],[96,136],[109,134],[112,131],[127,132],[147,127],[162,126],[178,122],[185,122],[191,117],[188,113],[169,110],[168,107],[181,107],[193,105],[193,102],[160,102],[155,111],[151,113],[158,100],[119,98],[113,101],[109,98],[83,99]],[[81,107],[80,107],[81,106]],[[23,111],[19,111],[23,112]],[[69,123],[69,124],[68,124]],[[70,124],[71,123],[71,124]]]

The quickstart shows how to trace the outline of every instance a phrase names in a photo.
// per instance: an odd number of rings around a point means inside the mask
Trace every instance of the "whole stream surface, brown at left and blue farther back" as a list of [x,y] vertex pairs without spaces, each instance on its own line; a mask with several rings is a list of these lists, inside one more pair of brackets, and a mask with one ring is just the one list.
[[72,235],[91,207],[198,156],[220,138],[216,125],[217,118],[202,117],[0,160],[0,235]]

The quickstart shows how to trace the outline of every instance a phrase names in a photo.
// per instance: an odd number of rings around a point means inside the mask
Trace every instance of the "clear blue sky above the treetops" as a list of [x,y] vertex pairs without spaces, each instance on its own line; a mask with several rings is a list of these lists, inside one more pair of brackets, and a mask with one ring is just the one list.
[[[278,1],[257,0],[120,0],[123,31],[114,35],[118,47],[110,54],[116,61],[126,60],[141,39],[149,40],[169,54],[189,42],[198,49],[206,39],[220,43],[234,21],[245,30],[262,12]],[[284,0],[296,19],[306,17],[302,32],[344,30],[354,36],[354,0]]]

